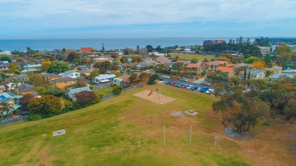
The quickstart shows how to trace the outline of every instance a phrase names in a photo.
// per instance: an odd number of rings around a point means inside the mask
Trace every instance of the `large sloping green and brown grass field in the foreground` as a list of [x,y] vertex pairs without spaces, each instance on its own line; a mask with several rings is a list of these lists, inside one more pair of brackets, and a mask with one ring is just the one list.
[[[176,101],[160,105],[135,96],[158,88]],[[156,95],[154,93],[154,95]],[[39,121],[0,127],[0,166],[289,166],[287,135],[292,126],[259,126],[251,140],[225,136],[214,97],[153,85],[96,105]],[[195,109],[196,116],[171,116]],[[163,125],[166,146],[163,145]],[[190,125],[192,145],[189,146]],[[275,128],[280,128],[276,130]],[[52,136],[66,129],[65,135]],[[43,136],[46,134],[46,136]],[[215,146],[215,135],[218,135]],[[138,137],[141,147],[138,147]],[[272,146],[270,146],[272,145]]]

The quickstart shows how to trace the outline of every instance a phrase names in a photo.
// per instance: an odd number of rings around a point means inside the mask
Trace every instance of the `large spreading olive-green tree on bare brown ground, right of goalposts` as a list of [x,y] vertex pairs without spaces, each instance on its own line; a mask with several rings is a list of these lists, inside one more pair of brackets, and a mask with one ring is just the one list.
[[[229,102],[231,101],[231,102]],[[212,105],[217,113],[222,112],[222,124],[227,127],[233,124],[234,132],[242,133],[255,127],[259,118],[267,116],[270,108],[258,98],[244,95],[242,90],[235,90],[233,94],[225,94]]]

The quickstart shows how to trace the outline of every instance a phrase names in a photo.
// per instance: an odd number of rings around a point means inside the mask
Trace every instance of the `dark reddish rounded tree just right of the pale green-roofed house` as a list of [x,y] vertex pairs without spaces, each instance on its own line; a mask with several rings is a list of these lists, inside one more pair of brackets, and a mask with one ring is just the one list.
[[95,103],[99,102],[99,101],[96,101],[97,100],[96,94],[91,91],[81,91],[81,92],[75,93],[74,98],[80,105],[88,105],[88,104],[91,104],[93,101],[95,101]]

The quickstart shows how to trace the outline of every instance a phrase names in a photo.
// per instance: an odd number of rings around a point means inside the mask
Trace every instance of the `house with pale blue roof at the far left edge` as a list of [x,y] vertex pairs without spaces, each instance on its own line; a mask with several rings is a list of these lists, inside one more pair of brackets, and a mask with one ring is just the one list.
[[[23,96],[17,96],[12,92],[4,92],[0,94],[0,102],[8,102],[11,104],[11,106],[14,108],[14,110],[17,110],[21,107],[21,105],[18,104],[18,99],[22,98]],[[1,106],[0,106],[1,107]],[[13,110],[11,110],[13,111]],[[10,112],[11,112],[10,111]],[[2,115],[1,115],[2,116]],[[2,119],[6,116],[6,111],[3,112]]]

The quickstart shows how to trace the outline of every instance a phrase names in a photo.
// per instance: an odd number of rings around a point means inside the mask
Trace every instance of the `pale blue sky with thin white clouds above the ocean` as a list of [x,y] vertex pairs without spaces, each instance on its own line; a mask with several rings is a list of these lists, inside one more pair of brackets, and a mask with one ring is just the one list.
[[296,37],[296,0],[0,0],[0,39]]

